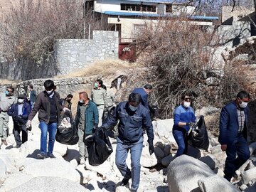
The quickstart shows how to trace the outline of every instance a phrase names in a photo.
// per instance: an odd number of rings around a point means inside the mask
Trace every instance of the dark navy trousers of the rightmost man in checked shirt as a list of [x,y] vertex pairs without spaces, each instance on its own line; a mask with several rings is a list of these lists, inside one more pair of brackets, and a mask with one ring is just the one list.
[[[242,134],[238,134],[233,144],[228,144],[226,154],[227,159],[225,161],[224,174],[225,178],[230,181],[235,171],[250,158],[249,147]],[[236,158],[237,154],[238,158]]]

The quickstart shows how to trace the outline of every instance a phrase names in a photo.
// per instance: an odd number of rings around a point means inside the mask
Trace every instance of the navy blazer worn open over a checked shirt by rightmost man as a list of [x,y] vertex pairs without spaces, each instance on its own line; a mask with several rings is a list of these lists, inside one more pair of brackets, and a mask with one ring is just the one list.
[[[249,108],[245,107],[245,126],[242,131],[243,137],[247,139],[247,122],[248,122],[248,113]],[[218,137],[218,142],[220,144],[232,144],[235,140],[235,137],[238,136],[238,112],[237,106],[234,102],[230,102],[228,105],[225,105],[220,112],[220,135]]]

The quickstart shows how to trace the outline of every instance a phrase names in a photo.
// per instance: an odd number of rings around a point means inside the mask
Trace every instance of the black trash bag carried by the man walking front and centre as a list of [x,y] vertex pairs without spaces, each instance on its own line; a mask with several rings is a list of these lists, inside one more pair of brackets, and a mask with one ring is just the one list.
[[86,138],[85,142],[89,164],[92,166],[103,164],[113,151],[105,128],[96,129],[92,137]]

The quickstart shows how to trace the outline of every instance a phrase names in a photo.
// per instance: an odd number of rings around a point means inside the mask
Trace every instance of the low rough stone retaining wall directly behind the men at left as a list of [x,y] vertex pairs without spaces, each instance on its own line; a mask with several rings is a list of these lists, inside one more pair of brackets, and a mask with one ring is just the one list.
[[[57,92],[60,93],[60,97],[66,97],[68,94],[74,94],[75,92],[87,91],[90,93],[92,90],[92,83],[96,77],[85,78],[61,78],[53,79],[54,84],[57,87]],[[37,94],[44,90],[43,82],[47,79],[26,80],[19,82],[15,88],[15,95],[26,92],[28,94],[28,85],[32,84],[33,89]],[[75,95],[74,95],[75,96]]]

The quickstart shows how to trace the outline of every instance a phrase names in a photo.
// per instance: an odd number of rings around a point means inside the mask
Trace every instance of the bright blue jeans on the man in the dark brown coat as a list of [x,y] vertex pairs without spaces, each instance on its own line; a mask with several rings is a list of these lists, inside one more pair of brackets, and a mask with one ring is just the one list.
[[[42,154],[53,154],[53,146],[55,142],[55,134],[57,129],[57,123],[46,124],[40,122],[39,128],[41,129],[41,146],[40,151]],[[47,149],[47,132],[49,132],[48,151]]]

